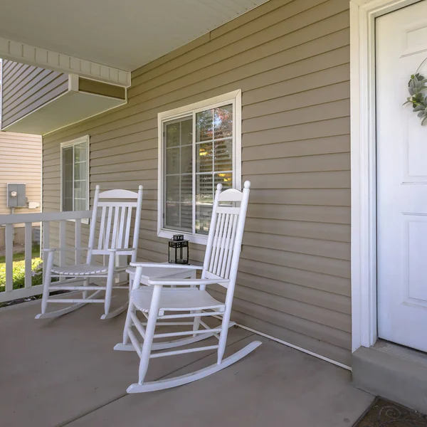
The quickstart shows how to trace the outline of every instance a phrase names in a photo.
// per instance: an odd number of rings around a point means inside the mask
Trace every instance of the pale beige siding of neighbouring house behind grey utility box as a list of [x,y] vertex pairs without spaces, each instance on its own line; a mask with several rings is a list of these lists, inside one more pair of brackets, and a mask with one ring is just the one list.
[[[0,215],[8,215],[6,189],[9,182],[26,184],[28,201],[41,203],[41,136],[0,132]],[[41,209],[16,208],[15,214]]]

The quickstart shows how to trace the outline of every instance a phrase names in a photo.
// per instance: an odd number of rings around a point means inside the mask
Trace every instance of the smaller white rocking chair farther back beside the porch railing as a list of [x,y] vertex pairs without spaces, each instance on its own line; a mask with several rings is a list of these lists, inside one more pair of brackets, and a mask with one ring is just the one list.
[[[120,315],[127,309],[126,302],[125,305],[110,312],[112,290],[125,289],[129,292],[128,281],[122,283],[122,285],[120,283],[114,284],[117,275],[125,273],[128,267],[128,265],[117,267],[116,255],[130,255],[131,261],[137,259],[141,206],[142,186],[139,186],[137,193],[128,190],[110,190],[100,193],[100,186],[96,186],[90,221],[89,246],[88,248],[80,248],[80,250],[88,251],[86,263],[56,267],[53,265],[55,253],[64,251],[64,249],[43,248],[43,251],[48,253],[48,259],[43,280],[41,314],[37,315],[36,319],[48,319],[65,315],[65,313],[77,310],[88,303],[104,304],[102,320]],[[97,224],[99,224],[99,227],[97,227]],[[99,234],[95,238],[97,229],[99,229]],[[132,243],[132,246],[130,246],[130,243]],[[75,251],[76,249],[66,250]],[[107,264],[95,265],[93,263],[93,255],[104,255],[104,259],[107,258],[108,260]],[[52,282],[52,278],[60,278],[60,281]],[[91,278],[103,278],[106,280],[106,285],[101,286],[90,283]],[[123,286],[123,284],[126,285]],[[83,292],[83,297],[68,298],[67,295],[64,295],[65,297],[49,298],[49,292],[56,290],[77,290]],[[89,291],[94,292],[88,295]],[[95,297],[101,291],[105,291],[105,297],[96,299]],[[73,305],[62,310],[46,312],[48,303],[73,303]]]

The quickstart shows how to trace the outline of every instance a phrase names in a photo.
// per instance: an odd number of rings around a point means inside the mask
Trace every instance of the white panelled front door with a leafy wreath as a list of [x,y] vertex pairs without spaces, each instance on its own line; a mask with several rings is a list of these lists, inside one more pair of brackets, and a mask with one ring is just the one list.
[[[427,352],[427,125],[402,104],[427,58],[427,1],[376,19],[378,334]],[[427,77],[427,60],[420,72]],[[426,91],[427,95],[427,91]]]

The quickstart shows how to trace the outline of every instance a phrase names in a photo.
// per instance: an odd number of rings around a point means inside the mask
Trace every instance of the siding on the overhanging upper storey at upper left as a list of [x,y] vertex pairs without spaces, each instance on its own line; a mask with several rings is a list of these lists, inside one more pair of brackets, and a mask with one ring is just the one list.
[[2,128],[67,92],[68,74],[3,61]]

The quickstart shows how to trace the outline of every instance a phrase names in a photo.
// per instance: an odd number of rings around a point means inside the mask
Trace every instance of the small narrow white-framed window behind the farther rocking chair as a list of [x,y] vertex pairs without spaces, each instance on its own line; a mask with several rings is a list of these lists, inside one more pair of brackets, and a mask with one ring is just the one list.
[[61,211],[89,209],[89,136],[60,144]]

